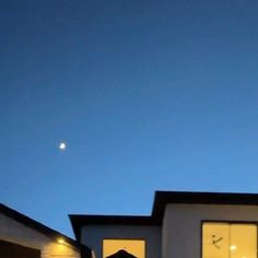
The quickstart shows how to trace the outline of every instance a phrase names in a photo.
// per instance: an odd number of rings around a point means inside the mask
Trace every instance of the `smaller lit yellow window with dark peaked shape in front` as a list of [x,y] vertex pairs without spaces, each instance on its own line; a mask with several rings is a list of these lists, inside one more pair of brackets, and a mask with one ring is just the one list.
[[103,258],[144,258],[145,242],[138,239],[104,239]]

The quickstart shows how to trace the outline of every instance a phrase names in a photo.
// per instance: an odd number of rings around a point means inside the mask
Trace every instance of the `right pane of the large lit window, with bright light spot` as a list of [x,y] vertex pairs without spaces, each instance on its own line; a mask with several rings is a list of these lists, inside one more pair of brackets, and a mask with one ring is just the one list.
[[231,258],[256,258],[257,226],[231,225]]

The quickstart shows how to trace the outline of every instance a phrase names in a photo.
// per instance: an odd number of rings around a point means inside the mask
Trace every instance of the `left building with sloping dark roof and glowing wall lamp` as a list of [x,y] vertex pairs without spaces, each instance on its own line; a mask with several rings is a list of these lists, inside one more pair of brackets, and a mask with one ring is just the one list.
[[0,203],[0,258],[91,258],[91,249]]

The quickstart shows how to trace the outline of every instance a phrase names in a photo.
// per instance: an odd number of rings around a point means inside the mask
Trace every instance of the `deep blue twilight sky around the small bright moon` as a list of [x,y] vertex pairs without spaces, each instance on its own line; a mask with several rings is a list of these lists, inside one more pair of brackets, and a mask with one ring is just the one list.
[[68,213],[150,214],[155,190],[258,192],[257,13],[0,1],[1,202],[72,235]]

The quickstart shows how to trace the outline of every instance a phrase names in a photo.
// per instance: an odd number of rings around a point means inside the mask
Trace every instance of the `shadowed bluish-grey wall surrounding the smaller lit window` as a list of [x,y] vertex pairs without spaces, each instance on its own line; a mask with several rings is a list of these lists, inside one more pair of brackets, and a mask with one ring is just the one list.
[[161,258],[161,226],[89,225],[82,227],[81,242],[102,258],[104,239],[144,239],[145,257]]

